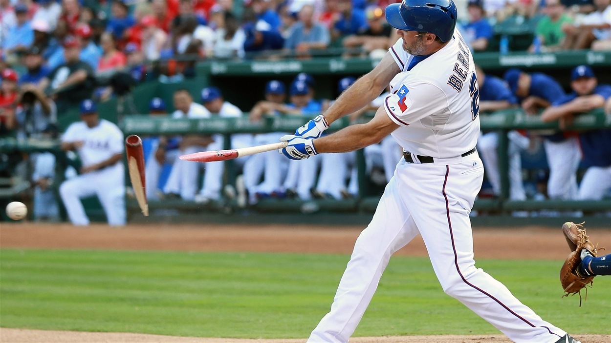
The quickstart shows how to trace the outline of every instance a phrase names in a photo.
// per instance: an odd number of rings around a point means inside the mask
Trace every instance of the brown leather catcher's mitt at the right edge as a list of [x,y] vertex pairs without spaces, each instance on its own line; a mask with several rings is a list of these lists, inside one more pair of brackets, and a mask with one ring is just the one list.
[[[568,295],[579,294],[579,306],[581,306],[581,293],[580,291],[590,286],[593,283],[594,275],[579,275],[577,267],[581,264],[581,251],[586,249],[590,251],[592,256],[597,256],[598,251],[596,247],[590,242],[588,235],[585,233],[584,223],[576,224],[573,222],[566,222],[562,225],[562,233],[565,234],[566,242],[572,252],[566,258],[565,264],[560,269],[560,283],[565,294],[562,297]],[[586,288],[585,297],[588,296],[588,289]]]

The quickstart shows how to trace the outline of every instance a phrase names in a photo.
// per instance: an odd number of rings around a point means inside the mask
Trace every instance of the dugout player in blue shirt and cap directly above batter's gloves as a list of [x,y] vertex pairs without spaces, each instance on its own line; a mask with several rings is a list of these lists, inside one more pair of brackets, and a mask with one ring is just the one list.
[[[288,105],[277,106],[276,110],[280,113],[291,115],[312,115],[320,113],[319,103],[312,98],[307,84],[303,81],[293,81],[290,88],[291,103]],[[313,156],[317,157],[317,156]],[[301,200],[312,198],[312,189],[316,182],[316,170],[320,165],[320,158],[307,159],[307,163],[288,162],[287,178],[279,189],[280,194],[289,196],[297,195]],[[299,161],[299,162],[305,162]]]

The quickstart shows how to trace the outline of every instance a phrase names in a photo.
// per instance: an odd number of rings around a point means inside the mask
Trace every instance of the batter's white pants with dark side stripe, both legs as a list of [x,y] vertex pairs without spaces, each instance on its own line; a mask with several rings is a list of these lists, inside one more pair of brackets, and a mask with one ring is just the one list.
[[401,161],[354,245],[331,312],[309,342],[348,342],[390,256],[419,233],[444,292],[512,341],[556,342],[564,336],[565,331],[542,320],[502,283],[475,267],[469,212],[482,179],[477,153],[440,164]]

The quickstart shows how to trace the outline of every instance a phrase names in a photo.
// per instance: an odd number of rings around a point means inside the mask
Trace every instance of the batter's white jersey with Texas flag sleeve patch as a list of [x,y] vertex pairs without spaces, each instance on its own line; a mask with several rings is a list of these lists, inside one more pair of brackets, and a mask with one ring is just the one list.
[[450,43],[407,70],[414,56],[398,40],[389,49],[401,68],[384,101],[401,127],[392,136],[409,153],[455,157],[472,150],[480,132],[479,88],[474,62],[458,30]]

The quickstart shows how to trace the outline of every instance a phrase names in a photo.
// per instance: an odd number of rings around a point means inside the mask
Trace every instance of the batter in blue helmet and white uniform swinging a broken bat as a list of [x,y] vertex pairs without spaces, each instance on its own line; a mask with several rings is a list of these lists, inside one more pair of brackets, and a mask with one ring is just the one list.
[[[370,73],[279,150],[300,160],[353,151],[392,134],[403,159],[373,218],[356,240],[331,311],[309,342],[348,342],[390,256],[421,234],[444,292],[514,342],[578,342],[541,319],[507,287],[475,267],[469,212],[483,179],[475,150],[479,89],[469,48],[455,30],[452,0],[403,0],[386,7],[399,39]],[[321,137],[329,124],[371,102],[390,83],[375,117]],[[320,138],[319,138],[320,137]]]

